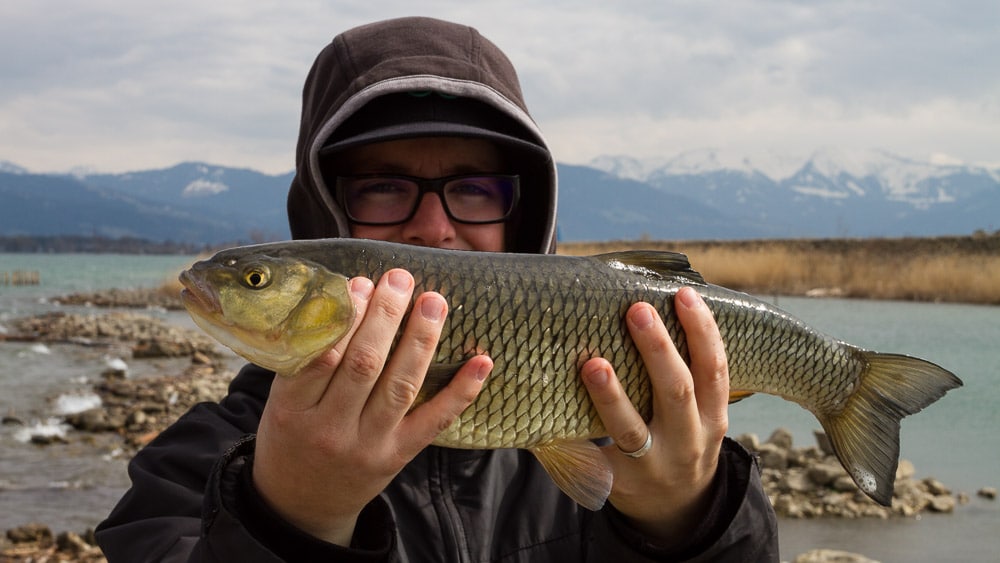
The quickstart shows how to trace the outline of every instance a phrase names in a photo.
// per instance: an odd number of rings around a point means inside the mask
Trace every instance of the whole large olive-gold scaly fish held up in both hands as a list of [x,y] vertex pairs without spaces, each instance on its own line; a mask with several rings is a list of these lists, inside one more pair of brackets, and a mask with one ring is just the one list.
[[414,295],[437,291],[449,304],[414,406],[446,386],[470,357],[485,353],[494,363],[475,401],[433,443],[527,449],[591,510],[603,506],[614,476],[597,446],[607,431],[580,367],[606,358],[636,410],[646,421],[652,417],[649,376],[624,320],[634,303],[657,308],[688,360],[673,297],[694,288],[725,345],[730,401],[765,393],[809,410],[858,488],[884,506],[892,502],[900,421],[962,385],[936,364],[862,349],[765,301],[710,284],[685,255],[666,251],[564,256],[360,239],[275,242],[196,262],[180,275],[181,297],[206,333],[257,365],[294,376],[354,322],[350,278],[377,280],[392,268],[413,275]]

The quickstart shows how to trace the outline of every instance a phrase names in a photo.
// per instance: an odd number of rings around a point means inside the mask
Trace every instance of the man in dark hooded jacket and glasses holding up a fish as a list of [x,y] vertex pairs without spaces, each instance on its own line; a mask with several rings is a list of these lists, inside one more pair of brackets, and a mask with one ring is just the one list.
[[[465,26],[403,18],[334,38],[306,80],[296,168],[295,238],[555,246],[554,162],[509,61]],[[110,561],[776,560],[756,465],[724,439],[725,353],[694,291],[676,303],[690,368],[650,306],[627,314],[648,426],[614,366],[581,369],[614,441],[614,488],[591,512],[530,453],[429,446],[492,362],[473,357],[411,411],[447,302],[414,298],[402,270],[375,281],[351,281],[358,320],[333,350],[291,378],[248,366],[136,456],[98,528]]]

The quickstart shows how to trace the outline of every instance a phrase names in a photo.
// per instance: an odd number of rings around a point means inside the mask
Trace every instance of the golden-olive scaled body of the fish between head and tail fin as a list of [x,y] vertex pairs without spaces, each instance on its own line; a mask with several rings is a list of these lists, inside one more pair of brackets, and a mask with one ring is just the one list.
[[[648,271],[615,269],[591,257],[524,261],[518,255],[470,252],[447,259],[448,254],[406,246],[394,246],[388,254],[348,248],[335,256],[299,255],[372,279],[405,266],[414,275],[417,292],[435,290],[449,302],[435,363],[456,364],[475,353],[493,359],[493,375],[480,398],[438,437],[441,445],[528,447],[556,436],[605,435],[579,376],[580,366],[592,357],[615,366],[633,404],[648,420],[648,374],[624,325],[626,310],[638,301],[661,312],[687,357],[672,300],[677,290],[692,285],[681,282],[690,280],[651,280]],[[707,284],[698,289],[726,342],[733,389],[836,411],[838,397],[854,386],[864,365],[850,348],[744,294]],[[811,358],[816,354],[827,369],[814,369]],[[545,427],[524,422],[533,416],[553,422]]]

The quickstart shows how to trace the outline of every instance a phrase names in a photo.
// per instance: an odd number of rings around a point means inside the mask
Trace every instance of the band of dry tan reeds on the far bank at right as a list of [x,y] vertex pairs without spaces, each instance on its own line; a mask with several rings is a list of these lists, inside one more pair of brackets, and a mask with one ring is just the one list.
[[711,283],[758,294],[1000,304],[1000,235],[926,239],[561,243],[561,254],[688,255]]

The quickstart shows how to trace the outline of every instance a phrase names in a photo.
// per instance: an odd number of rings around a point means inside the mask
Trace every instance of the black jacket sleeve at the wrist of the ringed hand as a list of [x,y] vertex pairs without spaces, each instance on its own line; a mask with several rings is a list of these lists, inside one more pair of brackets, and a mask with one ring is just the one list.
[[722,444],[714,497],[704,523],[684,545],[663,548],[632,529],[613,507],[594,523],[592,561],[778,561],[778,523],[756,459],[729,438]]

